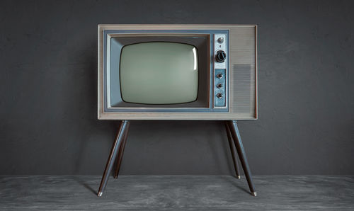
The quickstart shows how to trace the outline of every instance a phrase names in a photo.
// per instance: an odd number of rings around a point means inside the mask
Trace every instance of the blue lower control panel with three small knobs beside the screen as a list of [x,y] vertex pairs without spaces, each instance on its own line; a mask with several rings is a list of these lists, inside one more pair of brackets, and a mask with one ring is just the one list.
[[226,69],[215,69],[214,74],[214,107],[226,106]]

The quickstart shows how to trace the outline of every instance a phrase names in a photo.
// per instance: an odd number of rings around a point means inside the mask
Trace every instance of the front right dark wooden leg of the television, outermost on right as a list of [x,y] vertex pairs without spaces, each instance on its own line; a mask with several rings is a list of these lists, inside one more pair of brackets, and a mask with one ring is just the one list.
[[244,151],[244,146],[241,141],[241,135],[239,132],[239,128],[237,127],[236,120],[229,121],[229,129],[234,139],[234,143],[236,146],[237,153],[239,154],[239,159],[242,164],[242,168],[244,169],[244,173],[247,179],[247,183],[249,183],[249,189],[251,190],[251,194],[256,196],[256,189],[253,186],[251,169],[249,169],[249,162],[247,161],[246,152]]

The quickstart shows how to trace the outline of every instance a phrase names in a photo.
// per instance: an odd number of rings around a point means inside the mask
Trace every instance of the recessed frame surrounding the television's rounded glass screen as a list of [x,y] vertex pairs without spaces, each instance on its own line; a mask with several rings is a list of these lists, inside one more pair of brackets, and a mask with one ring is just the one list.
[[[120,59],[108,59],[108,108],[209,108],[210,107],[210,37],[209,35],[179,34],[166,35],[124,35],[110,38],[110,56],[121,56],[128,45],[146,42],[176,42],[193,45],[198,50],[198,96],[195,101],[171,104],[129,103],[120,92]],[[110,57],[108,56],[108,57]],[[119,80],[116,80],[119,79]]]

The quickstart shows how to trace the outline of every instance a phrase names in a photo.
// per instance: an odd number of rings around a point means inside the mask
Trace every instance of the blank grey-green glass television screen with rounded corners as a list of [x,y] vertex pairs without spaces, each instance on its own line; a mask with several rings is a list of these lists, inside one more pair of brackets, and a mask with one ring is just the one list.
[[127,103],[189,103],[198,96],[198,52],[177,42],[126,45],[120,55],[120,92]]

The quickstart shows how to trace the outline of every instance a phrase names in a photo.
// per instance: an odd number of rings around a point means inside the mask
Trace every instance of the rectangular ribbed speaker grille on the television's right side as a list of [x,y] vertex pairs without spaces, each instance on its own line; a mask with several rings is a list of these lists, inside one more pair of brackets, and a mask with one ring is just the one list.
[[255,74],[250,64],[232,65],[233,113],[254,115],[255,113]]

